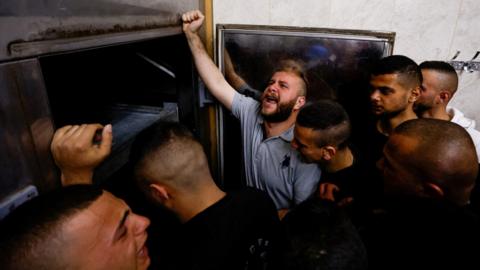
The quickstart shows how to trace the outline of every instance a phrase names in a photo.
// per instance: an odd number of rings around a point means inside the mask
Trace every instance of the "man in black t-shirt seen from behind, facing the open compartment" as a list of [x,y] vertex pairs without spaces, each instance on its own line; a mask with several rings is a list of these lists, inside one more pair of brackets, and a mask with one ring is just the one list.
[[280,244],[273,202],[254,189],[220,190],[188,129],[177,123],[148,128],[132,158],[143,192],[182,223],[178,237],[165,243],[171,249],[161,254],[162,269],[278,269],[272,264]]

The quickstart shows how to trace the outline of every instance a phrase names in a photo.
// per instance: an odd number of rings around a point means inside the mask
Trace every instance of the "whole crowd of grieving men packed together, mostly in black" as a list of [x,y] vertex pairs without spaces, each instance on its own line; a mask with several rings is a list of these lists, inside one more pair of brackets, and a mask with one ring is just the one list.
[[179,221],[162,232],[173,237],[153,238],[168,248],[149,253],[149,219],[92,185],[110,154],[112,126],[65,126],[51,146],[64,187],[2,221],[2,269],[147,269],[152,261],[155,269],[480,266],[480,133],[448,106],[458,87],[448,63],[380,59],[370,77],[376,122],[354,145],[342,105],[307,103],[301,64],[282,62],[259,100],[245,96],[237,91],[245,83],[229,83],[207,54],[198,35],[204,16],[191,11],[182,20],[200,77],[240,120],[245,188],[217,186],[185,126],[158,122],[142,131],[130,153],[132,180]]

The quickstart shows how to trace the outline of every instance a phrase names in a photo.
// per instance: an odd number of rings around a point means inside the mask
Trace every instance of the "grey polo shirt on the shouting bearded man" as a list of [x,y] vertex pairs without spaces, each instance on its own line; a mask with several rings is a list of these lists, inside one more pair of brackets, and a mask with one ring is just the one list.
[[291,147],[293,126],[280,136],[264,139],[260,103],[239,93],[233,98],[232,113],[241,123],[247,186],[265,190],[277,209],[291,208],[315,192],[320,169],[302,162]]

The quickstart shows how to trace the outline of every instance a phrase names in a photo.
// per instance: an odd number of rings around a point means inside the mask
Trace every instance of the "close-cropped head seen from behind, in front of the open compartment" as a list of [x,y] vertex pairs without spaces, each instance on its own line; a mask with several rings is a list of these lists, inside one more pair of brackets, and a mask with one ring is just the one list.
[[159,123],[138,137],[132,150],[135,172],[142,186],[161,183],[195,191],[210,175],[202,145],[184,126]]

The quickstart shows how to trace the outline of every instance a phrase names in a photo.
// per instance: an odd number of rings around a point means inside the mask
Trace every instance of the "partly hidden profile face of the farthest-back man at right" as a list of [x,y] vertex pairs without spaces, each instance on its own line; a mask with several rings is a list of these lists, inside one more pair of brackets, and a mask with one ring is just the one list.
[[435,107],[439,101],[436,72],[434,70],[422,69],[422,76],[422,88],[417,101],[415,101],[415,108],[420,111]]

